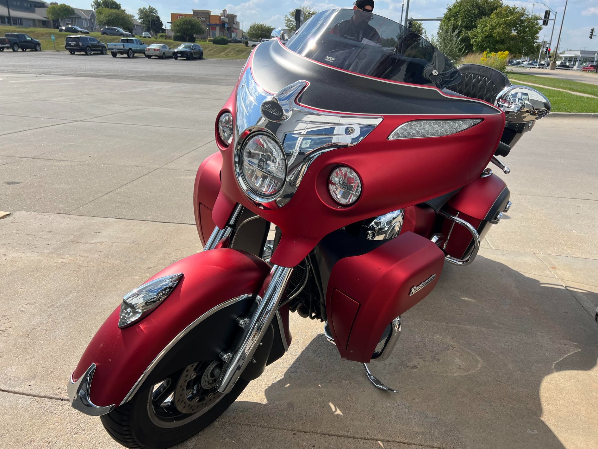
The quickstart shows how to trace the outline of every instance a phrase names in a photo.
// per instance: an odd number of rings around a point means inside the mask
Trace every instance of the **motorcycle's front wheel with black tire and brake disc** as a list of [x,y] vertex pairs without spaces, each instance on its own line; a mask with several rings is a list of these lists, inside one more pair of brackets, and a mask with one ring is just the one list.
[[164,449],[209,426],[248,384],[239,379],[228,394],[218,392],[224,364],[204,360],[167,375],[101,418],[110,436],[125,447]]

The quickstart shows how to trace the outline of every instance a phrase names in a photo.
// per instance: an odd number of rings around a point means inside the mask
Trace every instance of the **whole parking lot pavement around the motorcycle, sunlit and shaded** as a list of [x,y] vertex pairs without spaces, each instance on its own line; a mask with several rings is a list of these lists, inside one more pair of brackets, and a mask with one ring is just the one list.
[[[66,382],[124,293],[201,250],[194,175],[242,65],[0,54],[0,448],[120,447]],[[505,158],[511,210],[371,364],[398,394],[291,314],[286,356],[181,447],[594,447],[597,125],[542,119]]]

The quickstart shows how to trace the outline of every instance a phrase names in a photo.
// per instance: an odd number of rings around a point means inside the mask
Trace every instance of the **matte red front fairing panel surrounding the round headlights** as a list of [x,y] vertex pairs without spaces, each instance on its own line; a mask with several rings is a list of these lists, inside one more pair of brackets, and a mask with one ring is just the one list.
[[[250,58],[243,72],[251,68],[251,63]],[[234,95],[223,110],[235,116]],[[282,208],[260,208],[250,201],[236,178],[234,148],[232,145],[221,148],[222,187],[213,208],[213,221],[216,226],[224,227],[234,205],[242,204],[282,230],[282,239],[271,262],[296,266],[333,230],[428,201],[479,177],[504,129],[505,117],[498,110],[496,114],[481,115],[481,123],[453,135],[388,140],[392,131],[411,120],[471,118],[471,114],[383,116],[382,123],[359,144],[318,156],[297,193]],[[335,204],[328,193],[328,176],[339,165],[355,170],[362,181],[361,197],[350,207]]]

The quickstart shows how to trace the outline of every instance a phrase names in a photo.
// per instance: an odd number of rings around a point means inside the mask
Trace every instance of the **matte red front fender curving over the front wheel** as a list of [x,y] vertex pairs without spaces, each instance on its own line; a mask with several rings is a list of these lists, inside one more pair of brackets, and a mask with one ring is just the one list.
[[228,299],[258,293],[270,267],[252,254],[224,248],[193,254],[149,280],[181,272],[175,290],[138,324],[119,329],[119,305],[91,339],[72,379],[77,381],[91,363],[97,365],[90,392],[94,404],[118,406],[181,330]]

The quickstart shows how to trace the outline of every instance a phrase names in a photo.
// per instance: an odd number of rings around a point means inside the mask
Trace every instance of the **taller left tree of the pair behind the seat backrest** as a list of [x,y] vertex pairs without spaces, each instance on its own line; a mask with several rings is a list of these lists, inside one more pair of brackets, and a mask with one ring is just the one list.
[[502,0],[456,0],[447,8],[440,26],[456,30],[464,52],[469,53],[474,49],[469,33],[477,28],[478,20],[501,7]]

